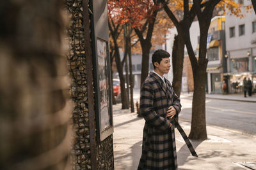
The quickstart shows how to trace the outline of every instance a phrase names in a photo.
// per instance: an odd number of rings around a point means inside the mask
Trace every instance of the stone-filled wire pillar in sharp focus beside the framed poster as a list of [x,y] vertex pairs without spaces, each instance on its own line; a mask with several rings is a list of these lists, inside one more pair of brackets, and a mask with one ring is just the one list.
[[[100,141],[97,126],[97,77],[95,77],[95,24],[93,3],[87,0],[66,0],[70,13],[67,54],[72,77],[70,95],[75,103],[72,119],[74,145],[72,169],[114,169],[113,136]],[[102,3],[106,5],[106,1]],[[101,10],[99,10],[101,11]],[[104,13],[108,16],[108,13]],[[108,18],[107,18],[108,19]],[[106,20],[108,23],[108,20]],[[104,27],[108,31],[108,25]],[[94,56],[94,57],[93,57]]]

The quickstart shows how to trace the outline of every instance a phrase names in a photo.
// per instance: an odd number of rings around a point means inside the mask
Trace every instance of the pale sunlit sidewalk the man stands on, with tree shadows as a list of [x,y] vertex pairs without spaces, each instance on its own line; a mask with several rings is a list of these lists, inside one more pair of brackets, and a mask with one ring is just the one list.
[[[144,119],[130,110],[121,110],[121,104],[113,105],[115,169],[137,169],[141,156]],[[180,125],[189,134],[190,123],[180,120]],[[256,136],[241,134],[207,125],[208,138],[192,141],[198,158],[191,156],[177,129],[176,144],[180,170],[243,170],[256,169]]]

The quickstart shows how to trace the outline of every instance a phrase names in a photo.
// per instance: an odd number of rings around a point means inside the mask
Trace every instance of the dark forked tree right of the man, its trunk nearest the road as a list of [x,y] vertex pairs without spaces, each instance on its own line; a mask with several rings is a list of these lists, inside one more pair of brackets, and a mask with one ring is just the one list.
[[[237,4],[234,1],[207,1],[205,7],[201,9],[202,4],[200,1],[193,1],[196,10],[196,17],[198,18],[200,27],[200,40],[199,40],[199,54],[198,61],[196,61],[195,53],[191,43],[186,43],[186,47],[189,53],[189,59],[191,60],[191,66],[193,70],[194,78],[194,94],[192,103],[192,120],[191,131],[189,134],[190,139],[207,139],[206,125],[205,125],[205,81],[206,81],[206,68],[208,59],[206,59],[207,52],[207,36],[208,29],[211,24],[212,13],[216,6],[223,6],[230,9],[231,13],[237,17],[244,17],[241,14],[241,4]],[[250,9],[250,6],[246,6],[246,10]]]

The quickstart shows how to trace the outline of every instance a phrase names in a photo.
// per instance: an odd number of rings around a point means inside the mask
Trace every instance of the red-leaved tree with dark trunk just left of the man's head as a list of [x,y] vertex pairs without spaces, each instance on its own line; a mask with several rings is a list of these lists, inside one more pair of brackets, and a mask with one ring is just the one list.
[[115,18],[120,24],[131,24],[131,28],[134,29],[138,36],[142,49],[141,83],[143,83],[148,76],[149,52],[152,46],[151,38],[158,12],[158,5],[153,1],[112,0],[109,1],[109,11],[111,11],[111,17]]

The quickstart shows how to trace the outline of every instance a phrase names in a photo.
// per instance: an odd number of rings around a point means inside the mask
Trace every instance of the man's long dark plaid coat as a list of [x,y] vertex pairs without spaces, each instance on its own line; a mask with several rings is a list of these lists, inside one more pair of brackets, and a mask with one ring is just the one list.
[[[138,169],[177,169],[174,120],[166,117],[169,106],[180,112],[180,99],[171,83],[166,88],[159,76],[150,73],[143,82],[140,94],[140,112],[145,118],[143,144]],[[172,127],[170,126],[172,123]]]

